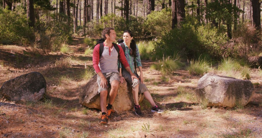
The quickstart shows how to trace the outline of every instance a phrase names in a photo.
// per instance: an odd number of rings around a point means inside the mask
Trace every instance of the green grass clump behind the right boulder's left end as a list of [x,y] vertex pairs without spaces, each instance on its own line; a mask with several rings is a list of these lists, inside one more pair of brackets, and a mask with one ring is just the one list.
[[204,73],[207,73],[212,68],[210,67],[210,62],[206,60],[192,60],[190,61],[190,65],[187,67],[189,74],[202,76]]

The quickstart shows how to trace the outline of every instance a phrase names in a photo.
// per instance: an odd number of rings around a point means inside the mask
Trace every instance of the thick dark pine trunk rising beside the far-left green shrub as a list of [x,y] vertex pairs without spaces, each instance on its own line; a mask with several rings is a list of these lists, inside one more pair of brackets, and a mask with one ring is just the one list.
[[[27,0],[26,15],[29,20],[28,25],[35,27],[35,15],[34,15],[34,0]],[[11,7],[12,8],[12,7]]]

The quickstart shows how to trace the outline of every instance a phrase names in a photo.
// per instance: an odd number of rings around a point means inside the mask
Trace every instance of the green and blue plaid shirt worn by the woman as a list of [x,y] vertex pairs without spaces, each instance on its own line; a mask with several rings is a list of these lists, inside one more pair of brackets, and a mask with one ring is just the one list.
[[[123,42],[125,44],[125,42]],[[136,62],[136,66],[139,67],[141,66],[142,67],[142,64],[141,64],[141,59],[140,59],[140,54],[139,54],[139,49],[138,49],[138,46],[136,45],[137,47],[137,51],[136,51],[136,57],[135,57],[135,62]],[[134,57],[133,56],[130,56],[130,49],[128,48],[128,46],[125,44],[125,58],[127,59],[127,62],[131,68],[131,71],[133,73],[135,73],[135,64],[134,64]],[[118,63],[119,64],[119,63]],[[121,67],[121,66],[120,66]],[[123,67],[122,67],[123,68]],[[124,68],[123,68],[124,69]],[[125,69],[124,69],[125,70]]]

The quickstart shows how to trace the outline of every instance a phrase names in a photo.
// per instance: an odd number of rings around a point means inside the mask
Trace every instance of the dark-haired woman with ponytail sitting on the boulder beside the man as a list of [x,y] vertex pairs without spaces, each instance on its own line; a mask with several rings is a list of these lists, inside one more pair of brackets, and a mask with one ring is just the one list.
[[135,73],[135,67],[134,67],[134,58],[136,61],[136,65],[139,68],[140,71],[140,76],[139,79],[134,79],[132,80],[130,74],[123,68],[120,68],[120,82],[123,83],[124,79],[133,87],[133,97],[135,101],[134,109],[135,109],[135,114],[138,116],[142,115],[140,105],[138,103],[138,93],[143,93],[145,96],[145,99],[149,101],[149,103],[152,106],[151,112],[157,112],[157,113],[162,113],[163,110],[161,110],[154,102],[152,99],[151,94],[149,93],[148,89],[146,88],[144,84],[144,77],[143,77],[143,71],[142,71],[142,64],[140,60],[140,55],[139,55],[139,50],[137,45],[135,44],[135,41],[133,40],[133,33],[130,30],[124,31],[123,34],[123,40],[124,40],[124,45],[125,45],[125,57],[129,63],[129,66],[131,68],[131,71],[138,77],[138,74]]

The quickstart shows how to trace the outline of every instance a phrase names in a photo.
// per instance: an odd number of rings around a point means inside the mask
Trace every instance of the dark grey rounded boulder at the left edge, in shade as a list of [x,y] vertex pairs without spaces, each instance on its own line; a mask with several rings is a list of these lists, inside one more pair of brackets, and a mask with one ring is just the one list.
[[0,94],[10,101],[39,101],[46,95],[46,80],[39,72],[31,72],[4,82]]

